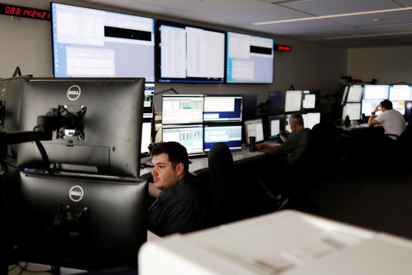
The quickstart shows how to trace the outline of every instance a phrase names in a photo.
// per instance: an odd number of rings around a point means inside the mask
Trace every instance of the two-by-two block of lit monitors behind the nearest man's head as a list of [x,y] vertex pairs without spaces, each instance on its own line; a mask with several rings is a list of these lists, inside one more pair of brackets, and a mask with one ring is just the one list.
[[163,95],[162,141],[183,144],[189,155],[203,155],[224,142],[242,149],[242,95]]

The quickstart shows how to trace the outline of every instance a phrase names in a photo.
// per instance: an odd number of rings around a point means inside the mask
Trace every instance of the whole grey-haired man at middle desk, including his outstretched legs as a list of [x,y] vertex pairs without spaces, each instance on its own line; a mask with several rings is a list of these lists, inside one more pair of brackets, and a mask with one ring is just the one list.
[[[285,171],[295,167],[295,164],[305,152],[311,139],[311,130],[305,128],[301,114],[296,113],[291,115],[289,125],[292,133],[281,145],[271,146],[267,143],[256,145],[258,150],[274,156],[274,165],[279,168],[277,170],[277,178],[280,178],[280,181],[276,183],[276,187],[279,188],[280,194],[275,198],[275,207],[277,209],[280,209],[288,201],[288,197],[296,195],[296,193],[299,192],[297,183],[286,181],[289,175],[286,175]],[[287,169],[285,170],[285,168]]]

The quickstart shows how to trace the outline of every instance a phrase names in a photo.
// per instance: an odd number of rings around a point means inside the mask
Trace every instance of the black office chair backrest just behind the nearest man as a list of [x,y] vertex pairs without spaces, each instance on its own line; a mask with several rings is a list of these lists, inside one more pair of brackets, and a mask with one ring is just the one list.
[[210,189],[209,189],[209,226],[227,222],[228,207],[225,197],[232,186],[234,177],[233,157],[229,147],[218,142],[210,148],[208,155]]

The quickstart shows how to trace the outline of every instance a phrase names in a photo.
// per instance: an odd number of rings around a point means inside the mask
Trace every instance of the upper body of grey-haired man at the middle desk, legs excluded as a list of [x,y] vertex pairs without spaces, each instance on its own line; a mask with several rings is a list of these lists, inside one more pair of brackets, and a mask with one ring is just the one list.
[[[292,134],[281,145],[270,146],[267,143],[257,144],[260,151],[269,153],[278,158],[286,156],[286,163],[293,167],[304,153],[311,137],[311,130],[305,128],[301,114],[293,114],[289,118]],[[283,164],[283,163],[282,163]]]

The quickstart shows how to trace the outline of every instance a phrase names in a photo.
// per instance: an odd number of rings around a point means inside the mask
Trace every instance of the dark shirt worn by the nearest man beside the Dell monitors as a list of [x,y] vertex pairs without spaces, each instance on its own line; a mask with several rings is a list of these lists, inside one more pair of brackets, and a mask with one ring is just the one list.
[[187,173],[161,191],[149,208],[149,229],[164,236],[201,229],[206,218],[206,194],[201,181]]

